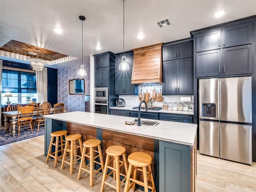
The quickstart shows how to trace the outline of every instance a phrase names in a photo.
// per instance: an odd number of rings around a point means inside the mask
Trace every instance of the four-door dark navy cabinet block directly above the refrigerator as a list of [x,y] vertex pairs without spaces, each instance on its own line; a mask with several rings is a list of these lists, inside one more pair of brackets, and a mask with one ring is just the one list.
[[196,77],[252,73],[252,22],[198,32]]

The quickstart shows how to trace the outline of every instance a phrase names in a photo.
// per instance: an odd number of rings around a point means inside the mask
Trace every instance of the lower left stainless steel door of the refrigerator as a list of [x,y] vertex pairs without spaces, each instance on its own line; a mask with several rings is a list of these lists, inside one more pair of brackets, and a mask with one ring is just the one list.
[[220,157],[219,122],[199,121],[199,152]]

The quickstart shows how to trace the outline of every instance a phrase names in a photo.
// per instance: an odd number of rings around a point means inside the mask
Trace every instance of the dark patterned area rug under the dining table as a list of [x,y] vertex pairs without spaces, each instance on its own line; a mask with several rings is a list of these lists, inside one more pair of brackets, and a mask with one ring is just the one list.
[[5,145],[8,143],[40,136],[43,134],[44,134],[44,126],[40,126],[39,132],[37,132],[37,128],[35,128],[33,130],[33,133],[31,132],[31,130],[27,131],[26,129],[22,129],[20,130],[20,136],[18,136],[18,130],[16,130],[15,136],[12,136],[9,133],[5,133],[3,129],[3,130],[0,130],[0,145]]

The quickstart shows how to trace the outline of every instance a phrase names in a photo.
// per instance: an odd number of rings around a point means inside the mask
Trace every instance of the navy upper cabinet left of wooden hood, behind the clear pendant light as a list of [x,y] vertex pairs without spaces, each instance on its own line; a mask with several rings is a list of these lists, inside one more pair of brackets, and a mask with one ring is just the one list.
[[123,53],[116,54],[115,59],[115,94],[116,95],[138,95],[138,85],[131,84],[133,51],[124,53],[130,69],[127,71],[118,70]]

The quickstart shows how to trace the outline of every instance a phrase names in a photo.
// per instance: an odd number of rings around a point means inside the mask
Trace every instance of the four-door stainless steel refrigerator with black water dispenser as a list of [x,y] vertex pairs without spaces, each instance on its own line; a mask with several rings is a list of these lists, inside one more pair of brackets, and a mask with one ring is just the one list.
[[252,164],[252,78],[199,80],[199,152]]

